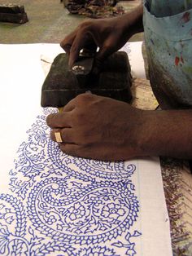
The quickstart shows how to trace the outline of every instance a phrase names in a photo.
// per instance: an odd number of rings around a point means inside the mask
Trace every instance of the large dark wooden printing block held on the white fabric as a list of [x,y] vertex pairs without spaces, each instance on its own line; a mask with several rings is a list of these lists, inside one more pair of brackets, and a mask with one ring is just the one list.
[[81,73],[80,68],[80,73],[74,73],[68,67],[68,55],[57,55],[41,88],[41,106],[62,108],[76,95],[88,90],[95,95],[129,103],[132,99],[132,78],[128,55],[124,51],[118,51],[108,57],[98,77],[89,72],[92,60],[93,58],[77,60],[73,68],[77,67],[78,71],[78,68],[83,66],[85,72]]

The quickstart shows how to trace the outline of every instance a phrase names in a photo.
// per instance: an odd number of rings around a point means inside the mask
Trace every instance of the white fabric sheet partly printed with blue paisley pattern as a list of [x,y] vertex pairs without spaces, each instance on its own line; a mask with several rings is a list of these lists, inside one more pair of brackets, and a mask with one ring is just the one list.
[[[124,49],[144,74],[141,42]],[[40,59],[59,52],[0,45],[0,254],[172,255],[158,159],[90,161],[50,141]]]

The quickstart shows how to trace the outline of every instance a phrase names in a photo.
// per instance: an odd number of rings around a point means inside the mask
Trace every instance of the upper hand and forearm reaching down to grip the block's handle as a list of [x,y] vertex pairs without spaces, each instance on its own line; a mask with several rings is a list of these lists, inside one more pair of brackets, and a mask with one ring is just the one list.
[[142,5],[133,11],[111,19],[87,20],[70,33],[60,45],[69,55],[69,66],[83,48],[98,46],[96,60],[102,63],[108,55],[118,51],[133,36],[142,32]]

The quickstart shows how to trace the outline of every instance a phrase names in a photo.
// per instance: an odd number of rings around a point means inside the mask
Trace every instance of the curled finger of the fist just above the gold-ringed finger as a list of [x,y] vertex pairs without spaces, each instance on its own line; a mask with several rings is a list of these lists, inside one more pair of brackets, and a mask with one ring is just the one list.
[[54,113],[46,117],[46,124],[50,128],[71,127],[70,115],[68,113]]

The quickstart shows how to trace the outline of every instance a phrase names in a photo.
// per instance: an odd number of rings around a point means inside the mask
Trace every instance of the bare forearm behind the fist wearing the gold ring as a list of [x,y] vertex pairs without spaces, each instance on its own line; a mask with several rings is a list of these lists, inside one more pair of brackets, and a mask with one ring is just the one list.
[[142,155],[192,159],[192,109],[143,113]]

